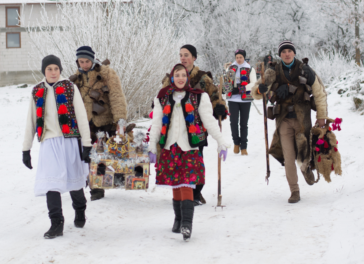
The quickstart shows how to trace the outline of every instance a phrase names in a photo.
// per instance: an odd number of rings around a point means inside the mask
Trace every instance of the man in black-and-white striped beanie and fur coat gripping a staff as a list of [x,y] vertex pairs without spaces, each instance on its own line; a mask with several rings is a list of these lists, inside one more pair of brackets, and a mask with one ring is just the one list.
[[[314,181],[309,167],[309,136],[312,127],[310,100],[314,99],[316,104],[316,123],[323,127],[325,119],[328,119],[327,93],[317,74],[307,64],[294,57],[296,48],[291,41],[282,41],[278,45],[278,54],[282,61],[265,71],[265,85],[259,79],[252,89],[252,94],[254,99],[260,100],[262,93],[270,90],[274,92],[276,105],[273,113],[276,115],[276,131],[268,153],[284,165],[291,191],[288,203],[297,203],[301,197],[296,160],[305,179]],[[307,180],[306,182],[309,185],[313,184]]]

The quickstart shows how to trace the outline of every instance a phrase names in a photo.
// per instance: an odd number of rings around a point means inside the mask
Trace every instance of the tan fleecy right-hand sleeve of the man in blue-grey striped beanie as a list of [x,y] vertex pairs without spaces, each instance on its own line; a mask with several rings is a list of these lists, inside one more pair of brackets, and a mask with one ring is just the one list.
[[111,113],[113,115],[114,122],[116,123],[120,118],[126,119],[127,117],[127,104],[123,88],[120,83],[119,76],[112,69],[108,69],[107,75],[107,87],[109,88],[109,100]]

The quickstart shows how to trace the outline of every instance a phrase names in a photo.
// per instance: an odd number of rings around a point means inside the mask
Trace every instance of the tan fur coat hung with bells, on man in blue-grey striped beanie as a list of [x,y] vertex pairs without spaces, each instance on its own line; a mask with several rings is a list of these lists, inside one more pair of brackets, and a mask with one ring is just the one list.
[[[89,71],[87,73],[80,73],[77,70],[75,75],[82,76],[80,80],[75,80],[75,84],[80,89],[89,122],[92,120],[97,127],[101,127],[113,122],[116,123],[120,118],[127,118],[127,104],[119,76],[109,65],[102,65],[99,72]],[[97,75],[102,76],[103,80],[97,81]],[[109,94],[103,95],[105,101],[103,107],[106,108],[106,111],[95,116],[92,114],[93,100],[90,98],[89,93],[91,89],[94,89],[103,94],[101,91],[103,86],[107,86],[109,89]]]

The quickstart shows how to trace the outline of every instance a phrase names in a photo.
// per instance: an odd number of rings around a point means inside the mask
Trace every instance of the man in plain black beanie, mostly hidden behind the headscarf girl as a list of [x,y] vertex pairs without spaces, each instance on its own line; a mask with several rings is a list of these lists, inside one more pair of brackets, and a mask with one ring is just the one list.
[[[213,116],[215,119],[218,119],[218,116],[221,115],[221,120],[226,119],[228,113],[228,108],[226,106],[225,100],[222,100],[222,104],[219,104],[219,88],[214,85],[213,77],[211,72],[201,71],[199,67],[194,65],[194,61],[197,58],[197,50],[193,45],[186,44],[181,47],[179,50],[179,60],[181,64],[183,64],[190,75],[190,85],[192,88],[202,89],[205,91],[209,97],[213,107]],[[163,78],[162,84],[163,88],[170,85],[170,75],[169,73]],[[207,136],[207,133],[206,133]],[[203,157],[203,147],[207,147],[207,139],[205,145],[201,145],[199,147],[199,151]],[[195,201],[195,205],[202,205],[202,203],[206,203],[205,199],[203,199],[201,195],[201,190],[203,188],[203,184],[197,185],[193,190],[193,197]]]

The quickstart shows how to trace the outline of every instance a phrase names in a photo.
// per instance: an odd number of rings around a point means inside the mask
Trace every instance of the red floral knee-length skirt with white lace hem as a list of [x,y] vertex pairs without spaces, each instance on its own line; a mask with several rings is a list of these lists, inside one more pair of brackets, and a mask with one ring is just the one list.
[[198,149],[182,151],[174,143],[171,150],[162,149],[155,167],[155,184],[168,185],[171,188],[195,188],[195,184],[205,184],[205,164]]

